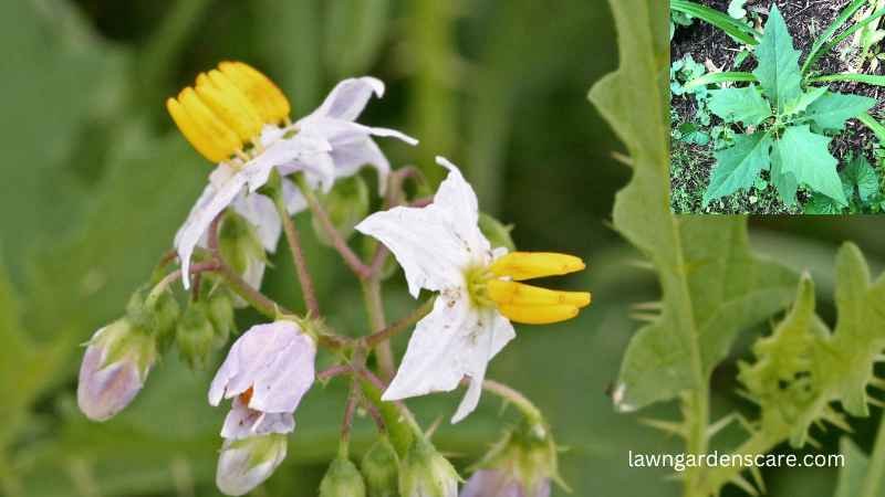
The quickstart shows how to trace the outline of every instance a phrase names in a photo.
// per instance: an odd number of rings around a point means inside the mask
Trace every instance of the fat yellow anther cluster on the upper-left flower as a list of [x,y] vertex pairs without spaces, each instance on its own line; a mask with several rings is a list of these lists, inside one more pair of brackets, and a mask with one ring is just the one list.
[[196,85],[166,101],[173,120],[204,157],[222,162],[257,145],[266,124],[289,118],[289,101],[267,76],[242,62],[200,73]]

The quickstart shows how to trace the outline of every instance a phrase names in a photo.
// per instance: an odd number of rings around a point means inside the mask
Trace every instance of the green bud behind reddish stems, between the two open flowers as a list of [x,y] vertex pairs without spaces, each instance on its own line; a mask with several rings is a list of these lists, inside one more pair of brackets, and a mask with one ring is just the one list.
[[[319,193],[317,198],[322,203],[329,219],[335,226],[341,236],[347,240],[353,234],[353,226],[365,219],[368,214],[368,187],[358,176],[335,181],[334,188],[329,193]],[[320,242],[332,245],[332,241],[323,230],[316,216],[312,218],[313,231]]]

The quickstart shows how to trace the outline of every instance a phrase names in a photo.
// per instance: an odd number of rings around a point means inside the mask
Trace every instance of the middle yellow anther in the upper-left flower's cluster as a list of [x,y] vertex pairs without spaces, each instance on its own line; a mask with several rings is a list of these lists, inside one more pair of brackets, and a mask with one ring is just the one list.
[[261,117],[254,105],[223,74],[214,70],[197,76],[197,95],[244,142],[261,134]]

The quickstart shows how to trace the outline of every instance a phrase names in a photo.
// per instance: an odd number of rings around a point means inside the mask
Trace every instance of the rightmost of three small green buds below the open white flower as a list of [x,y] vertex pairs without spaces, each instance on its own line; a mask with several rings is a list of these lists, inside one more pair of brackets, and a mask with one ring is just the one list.
[[402,497],[457,497],[458,473],[429,442],[416,438],[399,467]]

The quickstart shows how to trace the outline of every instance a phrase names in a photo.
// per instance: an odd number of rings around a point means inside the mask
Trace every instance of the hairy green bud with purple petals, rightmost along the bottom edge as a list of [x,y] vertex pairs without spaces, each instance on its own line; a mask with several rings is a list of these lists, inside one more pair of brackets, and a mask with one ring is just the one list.
[[556,454],[546,424],[527,420],[477,465],[460,497],[549,497],[551,482],[560,480]]

